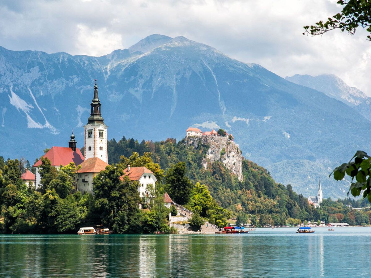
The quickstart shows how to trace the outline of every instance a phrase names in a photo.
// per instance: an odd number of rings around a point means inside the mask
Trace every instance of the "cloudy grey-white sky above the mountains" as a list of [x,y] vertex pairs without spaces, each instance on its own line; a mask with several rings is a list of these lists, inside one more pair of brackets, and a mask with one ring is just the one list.
[[285,77],[335,74],[371,96],[371,42],[302,26],[341,10],[337,0],[2,0],[0,46],[101,56],[150,34],[215,47]]

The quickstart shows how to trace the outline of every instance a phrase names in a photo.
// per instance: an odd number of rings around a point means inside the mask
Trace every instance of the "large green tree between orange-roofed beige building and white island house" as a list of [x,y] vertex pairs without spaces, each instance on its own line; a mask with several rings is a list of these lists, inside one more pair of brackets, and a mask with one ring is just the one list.
[[93,180],[94,212],[102,224],[123,233],[129,228],[130,219],[138,213],[140,202],[137,183],[132,183],[120,169],[109,165]]

